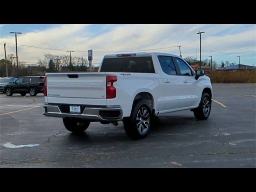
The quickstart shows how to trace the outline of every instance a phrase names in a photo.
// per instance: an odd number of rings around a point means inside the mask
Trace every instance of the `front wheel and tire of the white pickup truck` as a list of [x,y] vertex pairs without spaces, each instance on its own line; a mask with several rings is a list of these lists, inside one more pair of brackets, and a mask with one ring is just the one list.
[[194,116],[197,120],[206,120],[210,116],[212,108],[212,100],[206,92],[202,94],[201,102],[198,108],[194,109]]

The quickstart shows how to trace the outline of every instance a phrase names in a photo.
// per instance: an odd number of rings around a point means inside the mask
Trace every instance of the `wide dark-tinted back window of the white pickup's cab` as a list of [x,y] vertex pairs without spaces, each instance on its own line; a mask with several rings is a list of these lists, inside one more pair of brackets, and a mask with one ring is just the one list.
[[151,57],[105,58],[100,72],[154,73]]

